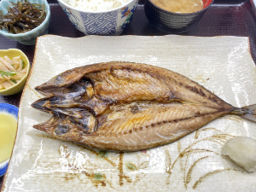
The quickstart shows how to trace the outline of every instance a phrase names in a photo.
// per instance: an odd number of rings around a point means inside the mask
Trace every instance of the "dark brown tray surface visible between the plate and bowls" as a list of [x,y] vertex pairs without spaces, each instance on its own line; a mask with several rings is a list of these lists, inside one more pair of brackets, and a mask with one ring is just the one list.
[[[49,34],[55,34],[70,38],[83,37],[84,33],[79,32],[68,20],[67,15],[62,11],[56,0],[48,0],[51,8],[51,21]],[[140,0],[137,11],[131,25],[121,34],[123,35],[144,35],[160,36],[175,33],[160,32],[151,26],[143,11],[144,0]],[[253,61],[256,63],[256,17],[253,12],[250,0],[215,0],[212,6],[207,9],[200,22],[191,28],[189,32],[179,35],[185,36],[241,36],[249,37]],[[21,49],[33,61],[35,45],[23,45],[18,42],[0,37],[0,49]],[[13,96],[0,96],[0,102],[9,103],[19,107],[21,92]],[[0,177],[0,188],[3,177]]]

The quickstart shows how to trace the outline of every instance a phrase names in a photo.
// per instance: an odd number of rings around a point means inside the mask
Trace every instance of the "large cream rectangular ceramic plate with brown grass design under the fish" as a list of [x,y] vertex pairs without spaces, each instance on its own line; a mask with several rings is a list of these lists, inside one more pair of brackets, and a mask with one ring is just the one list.
[[32,128],[50,117],[31,107],[43,97],[35,86],[67,69],[106,61],[166,67],[236,107],[256,103],[256,70],[248,38],[40,37],[20,102],[18,133],[3,192],[256,191],[256,172],[244,172],[221,155],[230,137],[256,138],[256,125],[233,115],[175,143],[136,153],[83,148]]

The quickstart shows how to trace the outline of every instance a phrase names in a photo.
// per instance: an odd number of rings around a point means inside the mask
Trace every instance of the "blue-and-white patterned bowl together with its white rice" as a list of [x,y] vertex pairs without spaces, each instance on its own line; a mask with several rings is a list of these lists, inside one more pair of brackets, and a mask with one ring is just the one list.
[[85,35],[119,35],[131,23],[138,0],[58,0]]

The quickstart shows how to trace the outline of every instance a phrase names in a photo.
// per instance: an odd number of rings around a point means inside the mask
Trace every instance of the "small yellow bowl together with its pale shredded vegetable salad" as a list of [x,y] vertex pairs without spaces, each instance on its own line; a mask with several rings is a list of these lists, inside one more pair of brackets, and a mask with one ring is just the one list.
[[0,95],[9,96],[23,90],[30,68],[20,49],[0,49]]

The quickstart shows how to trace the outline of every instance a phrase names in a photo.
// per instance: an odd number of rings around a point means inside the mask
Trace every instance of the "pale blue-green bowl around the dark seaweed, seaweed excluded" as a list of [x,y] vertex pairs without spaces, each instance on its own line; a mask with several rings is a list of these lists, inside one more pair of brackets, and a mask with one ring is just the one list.
[[[0,10],[3,11],[3,15],[8,13],[8,7],[10,5],[10,2],[17,3],[20,1],[21,0],[1,0],[0,1]],[[32,45],[32,44],[36,44],[38,36],[48,33],[49,20],[50,20],[50,9],[49,9],[49,4],[47,3],[47,0],[27,0],[27,2],[45,5],[45,11],[46,11],[47,15],[46,15],[44,22],[40,26],[32,29],[32,31],[30,31],[30,32],[13,34],[13,33],[9,33],[7,30],[0,30],[0,34],[6,38],[10,38],[14,41],[18,41],[18,42],[20,42],[20,44]]]

